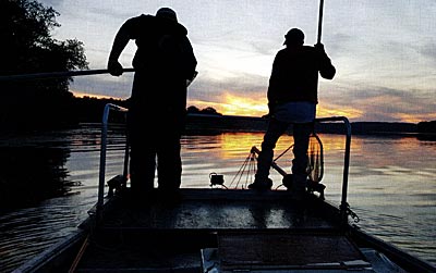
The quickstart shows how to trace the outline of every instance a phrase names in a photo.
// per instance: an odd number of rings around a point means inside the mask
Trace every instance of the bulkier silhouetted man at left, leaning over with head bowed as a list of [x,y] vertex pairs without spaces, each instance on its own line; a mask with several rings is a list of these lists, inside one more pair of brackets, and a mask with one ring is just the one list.
[[118,58],[131,39],[137,46],[128,114],[131,188],[140,196],[149,193],[157,167],[159,191],[170,195],[181,186],[186,80],[193,79],[197,61],[186,28],[169,8],[124,22],[109,55],[111,75],[122,74]]

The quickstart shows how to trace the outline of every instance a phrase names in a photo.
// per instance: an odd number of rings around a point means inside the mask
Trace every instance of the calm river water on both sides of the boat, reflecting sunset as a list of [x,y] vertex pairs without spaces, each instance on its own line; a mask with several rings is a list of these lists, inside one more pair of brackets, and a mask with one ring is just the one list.
[[[109,138],[107,178],[122,173],[124,152],[122,134],[117,128],[110,131],[113,134]],[[61,190],[55,189],[61,193],[60,197],[0,212],[0,272],[10,272],[45,250],[87,216],[87,210],[97,200],[99,133],[94,125],[83,125],[64,132],[0,137],[2,172],[10,170],[12,175],[7,177],[13,179],[13,185],[27,183],[34,194],[47,191],[43,184],[50,184],[55,177],[47,178],[46,172],[38,173],[46,164],[56,170],[56,174],[63,175],[66,185]],[[225,175],[228,187],[246,187],[253,172],[242,166],[251,147],[261,146],[262,137],[259,133],[183,137],[182,186],[209,187],[209,173],[216,172]],[[326,199],[339,203],[344,138],[339,135],[320,135],[320,138],[325,152]],[[284,151],[291,140],[290,136],[283,136],[277,154]],[[17,152],[20,157],[14,157]],[[289,171],[291,156],[288,152],[277,161],[286,171]],[[39,162],[38,167],[23,169],[29,162]],[[360,218],[358,225],[433,263],[436,263],[435,162],[436,141],[413,136],[352,137],[348,201]],[[13,171],[17,164],[22,165],[21,171]],[[280,174],[272,170],[271,178],[275,187],[279,187]],[[24,203],[16,198],[13,201]]]

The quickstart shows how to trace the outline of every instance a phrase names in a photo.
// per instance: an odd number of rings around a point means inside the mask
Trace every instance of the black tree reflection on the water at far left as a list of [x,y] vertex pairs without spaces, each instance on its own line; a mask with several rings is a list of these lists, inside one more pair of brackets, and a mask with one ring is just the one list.
[[0,208],[26,207],[68,193],[69,157],[68,148],[0,147]]

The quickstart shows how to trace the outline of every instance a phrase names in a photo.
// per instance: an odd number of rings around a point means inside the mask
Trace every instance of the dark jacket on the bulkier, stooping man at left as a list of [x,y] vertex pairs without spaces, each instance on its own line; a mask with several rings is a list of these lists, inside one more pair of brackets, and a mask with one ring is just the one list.
[[186,108],[186,79],[193,77],[197,64],[186,28],[175,21],[142,14],[128,20],[120,33],[137,46],[132,62],[132,112],[180,115]]

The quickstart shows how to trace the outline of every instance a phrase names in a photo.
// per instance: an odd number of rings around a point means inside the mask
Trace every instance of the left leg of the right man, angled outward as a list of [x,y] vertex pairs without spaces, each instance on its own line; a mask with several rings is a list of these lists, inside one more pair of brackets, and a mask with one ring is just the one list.
[[[268,176],[272,163],[274,149],[276,148],[277,140],[287,131],[288,126],[289,124],[287,123],[270,119],[268,128],[264,135],[264,140],[262,141],[262,150],[257,158],[257,171],[254,183],[251,184],[251,188],[255,188],[255,185],[263,187],[266,186],[266,183],[271,184]],[[270,186],[271,185],[269,185],[268,188],[270,188]]]

